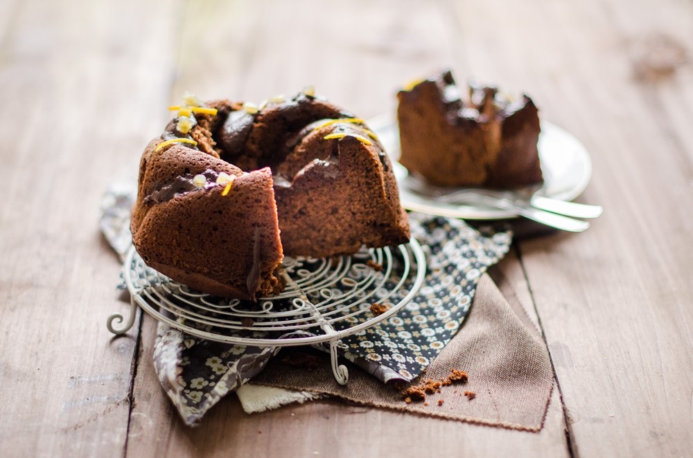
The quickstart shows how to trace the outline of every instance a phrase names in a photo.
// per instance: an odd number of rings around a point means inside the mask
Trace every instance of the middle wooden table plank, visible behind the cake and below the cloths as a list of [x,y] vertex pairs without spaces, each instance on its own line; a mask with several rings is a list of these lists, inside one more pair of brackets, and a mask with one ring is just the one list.
[[[350,3],[349,8],[308,1],[191,1],[172,102],[184,91],[203,98],[228,96],[259,102],[292,95],[306,84],[359,116],[394,109],[404,82],[453,62],[459,33],[445,5],[416,1]],[[229,25],[233,17],[234,26]],[[507,278],[529,301],[524,273],[510,259]],[[527,306],[532,312],[531,304]],[[535,318],[536,321],[536,318]],[[563,412],[554,392],[539,434],[421,419],[337,401],[247,415],[229,397],[199,428],[182,425],[151,364],[154,325],[146,320],[143,354],[134,385],[128,455],[410,456],[450,454],[546,455],[567,453]]]

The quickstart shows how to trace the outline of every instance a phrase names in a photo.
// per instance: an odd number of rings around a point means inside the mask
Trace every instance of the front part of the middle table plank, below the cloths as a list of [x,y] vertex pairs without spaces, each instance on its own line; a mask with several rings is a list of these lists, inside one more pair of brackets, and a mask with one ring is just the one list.
[[155,324],[146,317],[134,386],[127,455],[204,456],[568,456],[557,390],[539,433],[422,418],[336,400],[248,415],[236,396],[222,399],[198,428],[178,418],[154,372]]

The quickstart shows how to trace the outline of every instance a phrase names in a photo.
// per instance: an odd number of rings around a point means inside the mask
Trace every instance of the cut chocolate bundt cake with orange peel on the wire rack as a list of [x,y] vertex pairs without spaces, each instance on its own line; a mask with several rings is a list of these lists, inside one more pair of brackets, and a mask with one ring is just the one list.
[[188,97],[146,148],[132,239],[152,268],[213,295],[281,291],[283,254],[409,240],[392,167],[365,123],[312,91],[260,107]]

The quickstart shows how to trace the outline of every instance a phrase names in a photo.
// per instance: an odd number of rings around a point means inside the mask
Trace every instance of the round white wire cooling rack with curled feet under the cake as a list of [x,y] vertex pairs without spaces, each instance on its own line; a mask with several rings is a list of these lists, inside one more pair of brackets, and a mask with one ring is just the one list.
[[[170,327],[199,338],[234,345],[284,347],[329,345],[332,371],[346,385],[347,367],[337,361],[337,343],[397,313],[419,291],[426,257],[412,238],[397,247],[363,248],[351,256],[283,260],[284,291],[258,302],[194,291],[148,267],[131,247],[123,280],[132,309],[124,321],[113,313],[107,328],[115,334],[134,324],[137,306]],[[378,314],[372,304],[387,311]]]

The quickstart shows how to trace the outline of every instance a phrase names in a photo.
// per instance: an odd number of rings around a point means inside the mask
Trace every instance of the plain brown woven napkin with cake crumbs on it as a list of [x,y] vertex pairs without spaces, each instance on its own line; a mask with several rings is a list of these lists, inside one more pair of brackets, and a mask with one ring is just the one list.
[[440,392],[427,394],[425,401],[405,403],[401,390],[383,385],[354,366],[349,367],[349,384],[342,387],[335,383],[327,356],[320,354],[314,355],[320,364],[307,372],[283,364],[280,353],[252,383],[426,416],[541,430],[553,385],[552,367],[538,331],[514,295],[509,297],[510,302],[489,275],[482,276],[464,326],[413,385],[447,378],[451,369],[467,372],[468,381],[441,386]]

